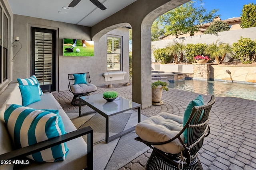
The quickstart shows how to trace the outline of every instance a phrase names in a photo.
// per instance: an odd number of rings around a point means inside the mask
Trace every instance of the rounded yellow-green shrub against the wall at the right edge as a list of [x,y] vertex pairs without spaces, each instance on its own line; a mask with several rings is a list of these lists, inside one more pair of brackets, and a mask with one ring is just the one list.
[[253,63],[256,59],[256,41],[250,38],[240,37],[237,43],[233,43],[235,59],[244,64]]

